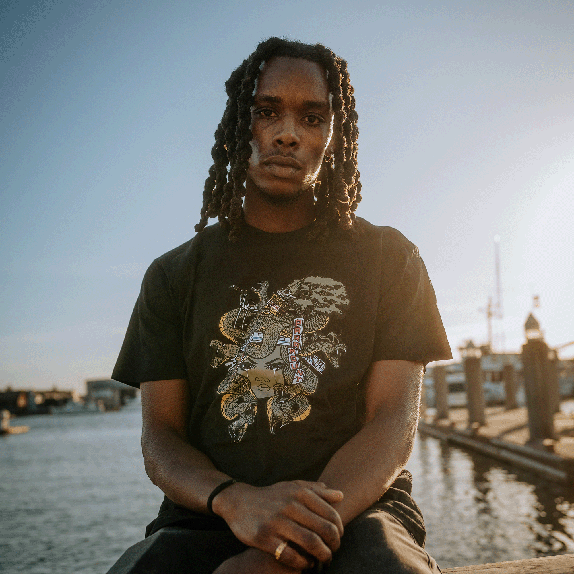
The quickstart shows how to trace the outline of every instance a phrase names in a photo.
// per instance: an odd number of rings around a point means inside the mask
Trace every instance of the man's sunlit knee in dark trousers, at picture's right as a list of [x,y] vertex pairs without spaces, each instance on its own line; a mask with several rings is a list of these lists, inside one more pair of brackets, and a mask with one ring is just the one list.
[[345,528],[329,574],[392,572],[429,574],[440,570],[398,519],[377,509],[359,514]]

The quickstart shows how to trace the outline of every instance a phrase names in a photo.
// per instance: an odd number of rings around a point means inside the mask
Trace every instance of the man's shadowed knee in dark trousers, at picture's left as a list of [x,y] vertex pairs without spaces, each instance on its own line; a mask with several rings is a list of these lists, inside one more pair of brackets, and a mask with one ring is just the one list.
[[244,549],[232,532],[166,526],[128,548],[107,574],[211,574]]

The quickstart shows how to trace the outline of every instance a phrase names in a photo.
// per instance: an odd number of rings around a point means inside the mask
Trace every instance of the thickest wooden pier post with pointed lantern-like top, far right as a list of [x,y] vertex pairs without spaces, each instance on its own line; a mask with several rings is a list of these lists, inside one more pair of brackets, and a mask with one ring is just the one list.
[[549,385],[549,349],[544,342],[540,324],[532,313],[526,319],[524,331],[526,344],[522,346],[522,364],[530,441],[554,439],[556,397]]

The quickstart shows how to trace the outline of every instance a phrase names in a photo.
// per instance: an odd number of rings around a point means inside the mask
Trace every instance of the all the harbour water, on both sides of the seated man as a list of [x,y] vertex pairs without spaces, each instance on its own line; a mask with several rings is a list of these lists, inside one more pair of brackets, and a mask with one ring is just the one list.
[[[0,437],[0,571],[104,574],[163,498],[144,471],[139,408],[17,424],[30,432]],[[432,437],[417,437],[408,468],[442,567],[574,552],[572,489]]]

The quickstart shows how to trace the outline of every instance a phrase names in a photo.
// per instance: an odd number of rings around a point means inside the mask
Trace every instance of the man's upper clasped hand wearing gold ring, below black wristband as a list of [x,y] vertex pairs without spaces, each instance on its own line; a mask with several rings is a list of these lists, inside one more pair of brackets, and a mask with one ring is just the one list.
[[[237,483],[216,495],[212,508],[239,540],[270,554],[274,561],[277,546],[287,540],[327,563],[343,535],[341,518],[331,505],[342,499],[339,490],[305,480],[265,487]],[[290,546],[280,561],[296,571],[311,566],[309,559]]]

